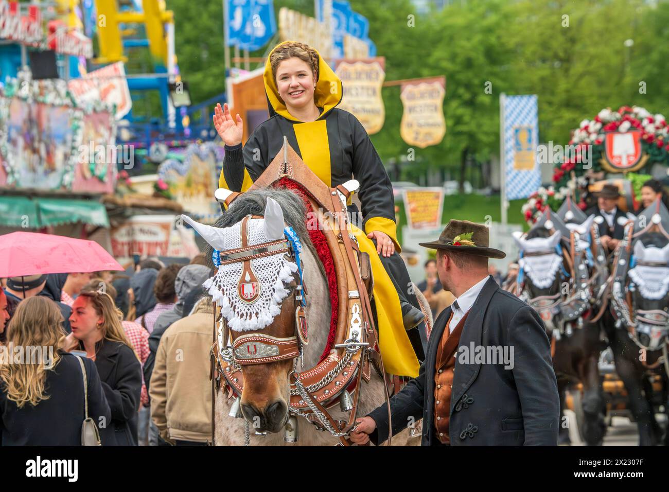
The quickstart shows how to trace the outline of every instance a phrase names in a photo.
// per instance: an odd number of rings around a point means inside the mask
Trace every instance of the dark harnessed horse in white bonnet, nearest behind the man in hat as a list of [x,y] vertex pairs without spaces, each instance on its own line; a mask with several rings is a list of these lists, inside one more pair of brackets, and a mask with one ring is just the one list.
[[[539,313],[551,338],[562,422],[566,422],[565,390],[580,382],[583,398],[577,410],[582,409],[583,418],[577,419],[579,434],[587,445],[598,446],[606,432],[605,402],[597,367],[603,347],[600,323],[589,321],[593,312],[588,289],[591,270],[585,258],[586,245],[580,239],[581,234],[589,232],[591,222],[590,218],[580,229],[567,228],[559,216],[547,216],[527,237],[514,236],[522,253],[519,260],[522,272],[518,274],[514,290]],[[567,234],[569,243],[563,241]],[[571,244],[576,246],[573,253]],[[593,274],[590,278],[596,277]],[[563,443],[569,442],[567,430],[568,426],[562,423],[560,440]]]

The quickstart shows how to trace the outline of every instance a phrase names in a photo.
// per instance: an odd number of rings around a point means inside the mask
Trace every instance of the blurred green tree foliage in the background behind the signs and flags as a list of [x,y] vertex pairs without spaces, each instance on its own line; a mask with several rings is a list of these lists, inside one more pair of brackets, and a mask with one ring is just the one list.
[[[314,13],[312,0],[274,1],[277,13],[284,6]],[[179,68],[193,102],[222,92],[221,2],[167,0],[167,7],[175,11]],[[669,112],[666,0],[470,0],[427,15],[409,0],[351,0],[351,7],[369,19],[386,80],[446,76],[446,137],[415,149],[404,179],[435,168],[464,175],[465,162],[496,155],[500,92],[537,94],[539,137],[556,144],[607,106]],[[385,126],[372,141],[387,161],[407,156],[409,146],[399,136],[399,87],[384,88],[383,99]]]

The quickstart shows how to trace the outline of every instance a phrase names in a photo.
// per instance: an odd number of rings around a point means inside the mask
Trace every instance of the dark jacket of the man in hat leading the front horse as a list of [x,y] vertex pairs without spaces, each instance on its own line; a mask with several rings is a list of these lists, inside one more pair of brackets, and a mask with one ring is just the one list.
[[[432,329],[418,377],[391,398],[393,434],[423,419],[423,446],[438,444],[434,427],[434,372],[438,343],[451,308]],[[462,347],[514,347],[514,366],[463,361]],[[462,329],[454,370],[449,434],[452,446],[557,445],[560,402],[551,345],[541,318],[488,277]],[[468,358],[468,357],[467,357]],[[388,437],[385,405],[369,414],[377,423],[370,438]]]

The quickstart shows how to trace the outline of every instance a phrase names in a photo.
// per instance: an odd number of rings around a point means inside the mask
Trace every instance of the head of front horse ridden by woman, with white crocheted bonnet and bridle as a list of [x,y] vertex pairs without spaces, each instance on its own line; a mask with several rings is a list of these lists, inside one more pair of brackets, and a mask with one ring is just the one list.
[[291,191],[258,189],[237,197],[215,227],[185,218],[207,240],[215,263],[219,258],[217,274],[205,282],[221,307],[219,352],[242,367],[242,414],[260,432],[281,430],[289,416],[301,282],[284,216],[305,238],[305,213]]

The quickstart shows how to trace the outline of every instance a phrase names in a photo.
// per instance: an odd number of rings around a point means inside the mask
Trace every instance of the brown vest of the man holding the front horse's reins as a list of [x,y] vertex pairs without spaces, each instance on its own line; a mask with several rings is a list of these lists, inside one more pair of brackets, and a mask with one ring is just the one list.
[[453,388],[453,370],[456,365],[456,354],[460,343],[462,327],[467,320],[469,311],[462,317],[460,323],[450,333],[448,325],[453,318],[446,322],[446,328],[437,347],[436,367],[434,372],[434,426],[437,429],[437,438],[444,444],[450,444],[448,436],[448,419],[451,408],[451,392]]

